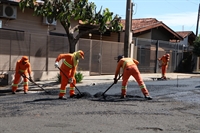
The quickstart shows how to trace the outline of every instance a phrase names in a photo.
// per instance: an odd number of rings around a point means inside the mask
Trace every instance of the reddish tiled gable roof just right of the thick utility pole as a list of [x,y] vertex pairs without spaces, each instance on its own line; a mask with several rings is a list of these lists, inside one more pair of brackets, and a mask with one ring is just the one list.
[[[125,30],[125,20],[121,21]],[[155,18],[133,19],[131,25],[133,37],[146,38],[152,40],[182,40],[183,38],[165,25],[162,21]]]

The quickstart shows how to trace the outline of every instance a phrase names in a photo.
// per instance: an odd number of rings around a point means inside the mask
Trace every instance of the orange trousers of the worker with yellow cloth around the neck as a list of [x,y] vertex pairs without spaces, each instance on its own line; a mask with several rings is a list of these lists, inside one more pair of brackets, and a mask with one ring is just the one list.
[[[68,84],[69,75],[67,73],[65,73],[65,74],[66,75],[64,75],[62,72],[60,72],[61,86],[60,86],[59,97],[63,97],[66,94],[66,86]],[[70,83],[70,90],[69,90],[69,95],[70,96],[75,94],[75,85],[76,85],[76,79],[73,77],[73,83]]]

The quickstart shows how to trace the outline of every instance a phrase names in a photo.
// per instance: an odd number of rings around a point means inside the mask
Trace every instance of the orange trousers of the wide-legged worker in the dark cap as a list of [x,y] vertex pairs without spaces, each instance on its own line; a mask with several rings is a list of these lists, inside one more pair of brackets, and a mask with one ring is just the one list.
[[122,95],[126,95],[128,79],[129,79],[130,76],[133,76],[135,78],[135,80],[137,81],[143,95],[144,96],[149,95],[149,92],[146,88],[146,85],[143,82],[143,79],[140,75],[138,67],[135,64],[127,66],[126,68],[124,68],[123,81],[122,81]]

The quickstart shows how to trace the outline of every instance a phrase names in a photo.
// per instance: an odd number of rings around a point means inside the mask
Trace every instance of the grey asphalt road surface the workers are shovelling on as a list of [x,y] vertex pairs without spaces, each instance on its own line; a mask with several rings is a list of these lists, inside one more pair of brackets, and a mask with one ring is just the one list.
[[50,94],[36,86],[28,94],[1,93],[0,133],[200,132],[199,78],[145,83],[153,100],[145,100],[134,81],[129,81],[126,99],[120,99],[121,82],[105,98],[94,95],[112,82],[78,86],[91,94],[79,99],[58,100],[56,84],[49,87]]

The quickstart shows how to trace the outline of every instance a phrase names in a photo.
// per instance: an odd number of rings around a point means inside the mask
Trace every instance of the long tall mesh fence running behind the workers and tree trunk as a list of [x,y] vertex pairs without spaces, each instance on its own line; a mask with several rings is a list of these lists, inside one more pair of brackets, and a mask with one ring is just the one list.
[[[141,73],[156,73],[157,58],[166,52],[170,53],[168,71],[173,72],[183,56],[183,45],[179,43],[141,38],[133,38],[133,42]],[[123,48],[120,42],[80,39],[77,49],[85,52],[85,59],[80,60],[78,70],[89,71],[90,75],[114,74],[116,57],[123,54]],[[14,71],[15,63],[23,55],[29,57],[34,73],[57,71],[55,59],[68,51],[67,37],[0,30],[0,72]]]

